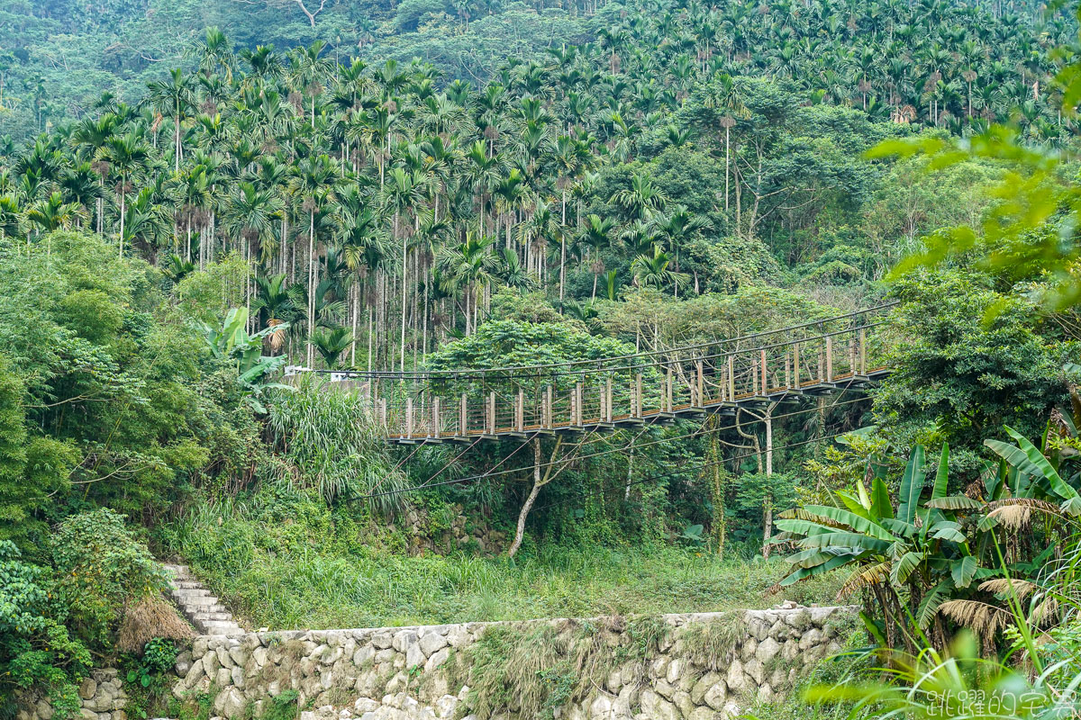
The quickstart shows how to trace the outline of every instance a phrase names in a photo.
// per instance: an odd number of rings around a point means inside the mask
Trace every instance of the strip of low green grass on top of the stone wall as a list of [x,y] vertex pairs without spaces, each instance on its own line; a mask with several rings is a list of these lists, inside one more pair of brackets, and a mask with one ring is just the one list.
[[[777,561],[722,560],[670,546],[542,546],[515,561],[408,557],[347,518],[289,520],[217,506],[174,526],[170,544],[252,627],[344,628],[712,612],[793,599],[829,603],[836,581],[766,594]],[[392,543],[391,543],[392,544]]]

